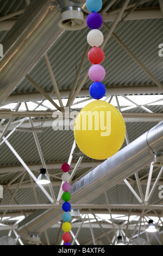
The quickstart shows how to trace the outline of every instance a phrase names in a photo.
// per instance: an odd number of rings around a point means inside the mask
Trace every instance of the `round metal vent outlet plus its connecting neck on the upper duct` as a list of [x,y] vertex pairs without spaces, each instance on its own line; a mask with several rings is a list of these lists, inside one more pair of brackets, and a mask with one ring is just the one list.
[[61,20],[58,26],[67,31],[76,31],[86,27],[83,15],[84,1],[57,0],[54,5],[61,12]]

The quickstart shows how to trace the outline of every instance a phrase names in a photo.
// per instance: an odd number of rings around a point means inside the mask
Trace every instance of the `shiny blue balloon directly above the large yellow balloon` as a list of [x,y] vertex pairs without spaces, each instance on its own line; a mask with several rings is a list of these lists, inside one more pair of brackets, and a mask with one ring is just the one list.
[[105,96],[106,88],[101,82],[94,82],[89,88],[89,93],[93,99],[99,100]]

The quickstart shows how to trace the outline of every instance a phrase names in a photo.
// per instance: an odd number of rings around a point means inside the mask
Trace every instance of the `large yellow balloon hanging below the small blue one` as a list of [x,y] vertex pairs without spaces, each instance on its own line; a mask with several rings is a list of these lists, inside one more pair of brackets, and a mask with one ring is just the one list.
[[74,139],[78,148],[92,159],[104,160],[117,153],[125,135],[122,114],[102,100],[86,105],[74,123]]

